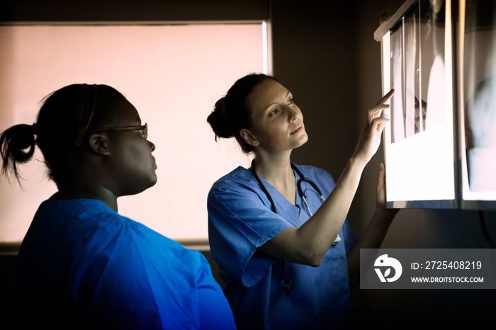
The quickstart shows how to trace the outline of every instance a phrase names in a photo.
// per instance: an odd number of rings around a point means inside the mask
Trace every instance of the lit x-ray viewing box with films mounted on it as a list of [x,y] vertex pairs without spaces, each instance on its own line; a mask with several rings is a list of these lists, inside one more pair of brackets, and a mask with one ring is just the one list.
[[374,33],[388,207],[496,210],[496,0],[407,0]]

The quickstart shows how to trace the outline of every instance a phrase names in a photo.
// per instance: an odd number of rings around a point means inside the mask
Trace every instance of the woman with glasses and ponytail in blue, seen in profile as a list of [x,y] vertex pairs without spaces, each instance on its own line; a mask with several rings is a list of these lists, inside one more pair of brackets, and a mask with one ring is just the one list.
[[118,214],[118,197],[157,182],[147,128],[112,87],[74,84],[0,135],[4,176],[38,145],[58,189],[18,254],[19,329],[235,329],[202,254]]

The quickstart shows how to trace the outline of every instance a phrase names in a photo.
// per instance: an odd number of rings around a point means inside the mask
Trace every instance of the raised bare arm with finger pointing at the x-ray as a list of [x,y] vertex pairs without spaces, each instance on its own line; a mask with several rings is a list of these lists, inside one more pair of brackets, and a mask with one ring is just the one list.
[[259,247],[259,251],[283,260],[319,266],[341,229],[359,186],[364,167],[381,144],[381,134],[389,119],[383,115],[393,90],[366,112],[354,154],[342,176],[322,206],[300,228],[288,228]]

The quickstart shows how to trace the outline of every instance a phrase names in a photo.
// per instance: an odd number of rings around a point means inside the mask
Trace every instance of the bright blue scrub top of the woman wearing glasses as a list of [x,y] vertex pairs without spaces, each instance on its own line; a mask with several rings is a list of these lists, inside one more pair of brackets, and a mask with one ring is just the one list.
[[40,205],[15,288],[21,329],[235,329],[200,252],[98,200]]

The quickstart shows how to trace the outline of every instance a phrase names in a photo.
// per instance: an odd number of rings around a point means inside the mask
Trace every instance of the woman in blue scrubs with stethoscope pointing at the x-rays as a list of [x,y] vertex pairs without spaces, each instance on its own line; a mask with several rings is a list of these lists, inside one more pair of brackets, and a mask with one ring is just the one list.
[[235,137],[254,154],[249,169],[223,176],[208,195],[210,249],[238,329],[349,327],[359,249],[378,248],[397,212],[385,209],[381,164],[376,212],[361,241],[346,220],[363,168],[381,143],[392,93],[367,111],[336,183],[322,169],[291,163],[308,135],[293,95],[274,77],[244,76],[215,103],[208,123],[216,137]]

